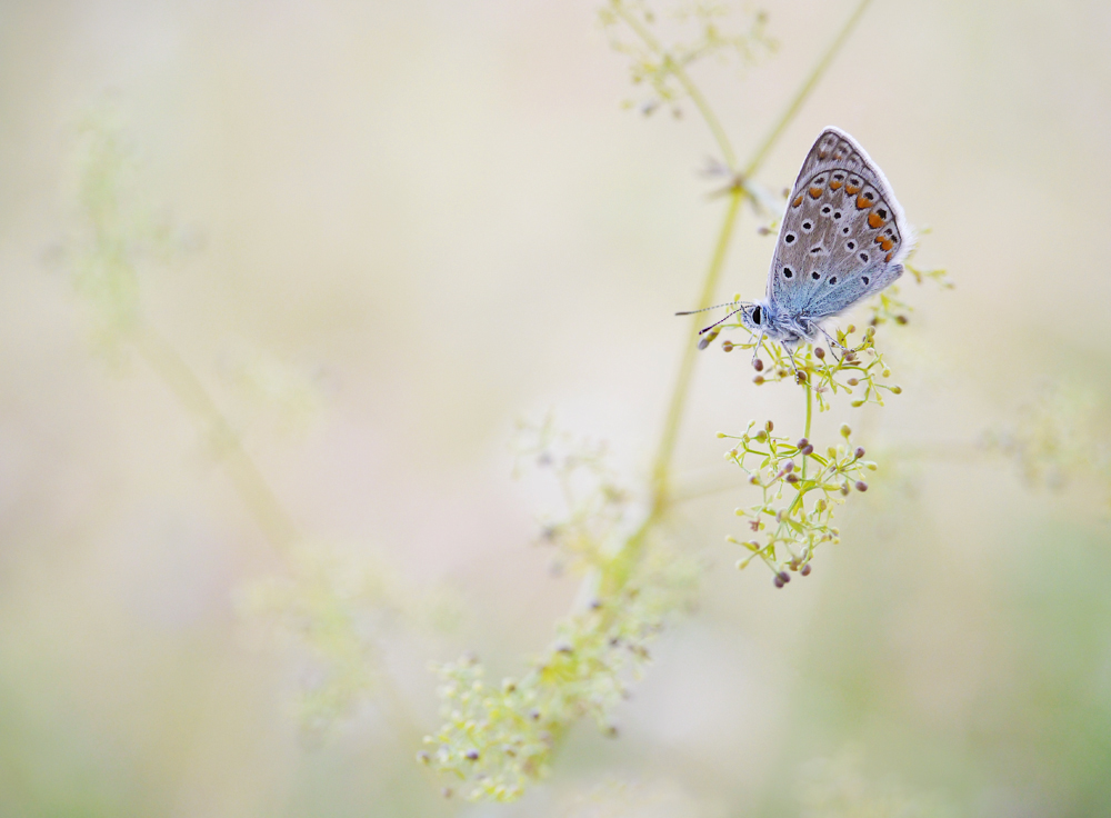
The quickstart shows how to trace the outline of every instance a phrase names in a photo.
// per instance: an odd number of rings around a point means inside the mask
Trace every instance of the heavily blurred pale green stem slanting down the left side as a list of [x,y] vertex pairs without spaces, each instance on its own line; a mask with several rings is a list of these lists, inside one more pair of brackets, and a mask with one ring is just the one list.
[[[92,308],[93,338],[110,357],[124,349],[133,351],[196,422],[207,452],[222,466],[250,516],[281,558],[289,583],[300,595],[294,602],[300,602],[302,609],[327,611],[322,616],[327,621],[310,624],[316,630],[301,629],[328,635],[320,644],[310,646],[317,657],[333,665],[341,664],[338,659],[350,665],[354,661],[351,657],[358,658],[360,672],[349,674],[357,677],[358,685],[344,688],[347,698],[332,698],[346,706],[367,691],[374,691],[398,740],[418,741],[422,730],[404,696],[393,686],[380,649],[356,627],[357,611],[352,609],[356,602],[349,598],[352,595],[343,596],[329,585],[321,577],[320,567],[313,563],[314,558],[322,559],[320,552],[327,549],[299,530],[202,379],[174,345],[146,320],[139,268],[143,261],[164,261],[172,256],[173,249],[168,243],[171,231],[144,211],[133,150],[112,114],[108,109],[94,109],[79,129],[82,141],[78,199],[83,218],[71,242],[71,259],[77,290]],[[371,585],[378,588],[382,582]],[[371,601],[399,608],[386,592]],[[334,690],[327,689],[317,698],[329,699],[331,694]],[[334,709],[338,711],[340,707]]]

